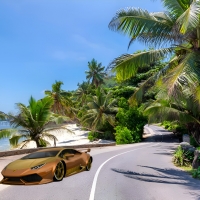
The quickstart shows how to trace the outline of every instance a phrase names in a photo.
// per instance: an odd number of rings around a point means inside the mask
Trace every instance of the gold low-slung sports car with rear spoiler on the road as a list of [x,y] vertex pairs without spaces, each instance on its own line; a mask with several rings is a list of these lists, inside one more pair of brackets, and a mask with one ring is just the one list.
[[68,148],[36,151],[8,164],[1,172],[1,183],[35,185],[61,181],[65,176],[90,170],[93,159],[88,152],[90,149],[81,152]]

